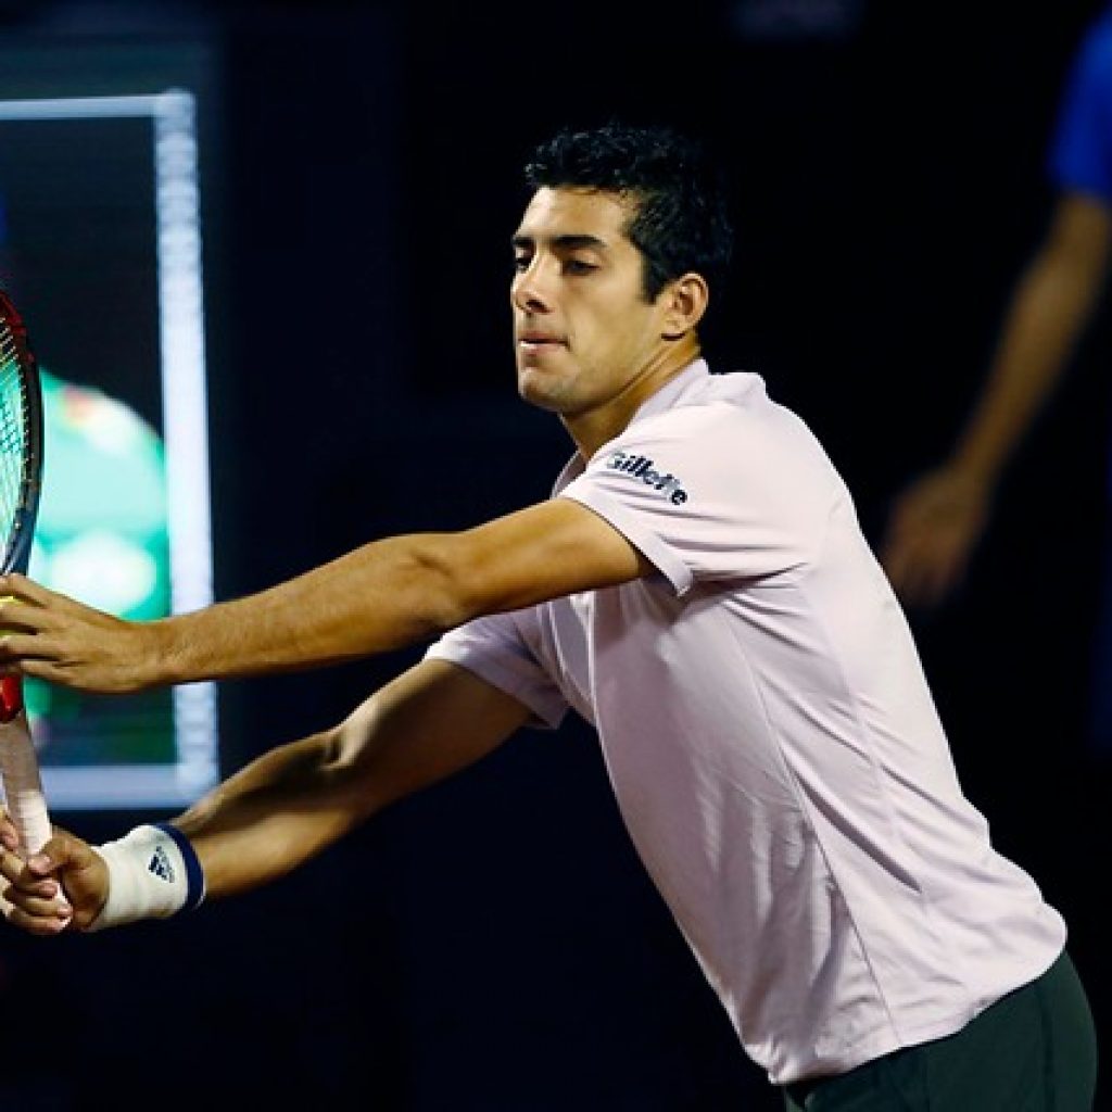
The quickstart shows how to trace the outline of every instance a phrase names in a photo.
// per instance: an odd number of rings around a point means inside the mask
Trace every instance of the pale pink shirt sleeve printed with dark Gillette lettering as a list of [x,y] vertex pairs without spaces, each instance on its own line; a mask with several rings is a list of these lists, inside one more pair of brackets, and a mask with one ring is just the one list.
[[701,580],[810,566],[844,484],[806,426],[771,403],[637,421],[559,492],[610,523],[683,594]]

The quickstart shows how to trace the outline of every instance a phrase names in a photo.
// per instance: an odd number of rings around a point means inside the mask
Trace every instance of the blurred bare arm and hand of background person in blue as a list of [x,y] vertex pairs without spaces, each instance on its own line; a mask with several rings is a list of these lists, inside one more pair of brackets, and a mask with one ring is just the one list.
[[909,603],[936,603],[960,582],[1009,460],[1061,380],[1103,291],[1112,210],[1060,200],[1023,272],[981,396],[950,457],[896,500],[881,558]]

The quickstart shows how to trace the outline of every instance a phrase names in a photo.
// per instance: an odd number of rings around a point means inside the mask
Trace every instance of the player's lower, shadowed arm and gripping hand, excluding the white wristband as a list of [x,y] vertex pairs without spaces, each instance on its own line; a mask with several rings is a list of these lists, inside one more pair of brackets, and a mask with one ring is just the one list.
[[[466,767],[524,725],[523,704],[471,673],[425,661],[334,729],[279,746],[173,820],[205,875],[209,898],[272,881],[390,803]],[[96,847],[57,831],[27,864],[0,824],[6,914],[34,934],[95,923],[109,873]],[[66,903],[57,901],[61,884]],[[69,909],[69,911],[67,911]]]

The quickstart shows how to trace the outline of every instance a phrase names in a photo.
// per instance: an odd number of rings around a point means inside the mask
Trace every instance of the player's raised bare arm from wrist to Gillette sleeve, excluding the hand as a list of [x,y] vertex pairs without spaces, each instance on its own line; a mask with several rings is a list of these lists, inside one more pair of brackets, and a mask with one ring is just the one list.
[[140,683],[355,659],[649,569],[597,515],[553,499],[460,533],[374,542],[269,590],[155,623],[160,646]]

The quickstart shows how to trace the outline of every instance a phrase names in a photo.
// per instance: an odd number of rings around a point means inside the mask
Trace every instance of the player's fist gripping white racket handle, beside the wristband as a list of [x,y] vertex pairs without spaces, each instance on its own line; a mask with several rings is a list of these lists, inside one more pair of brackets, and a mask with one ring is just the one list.
[[13,926],[31,934],[86,930],[108,898],[108,867],[88,843],[54,827],[41,853],[24,862],[17,856],[18,837],[0,811],[0,909]]

